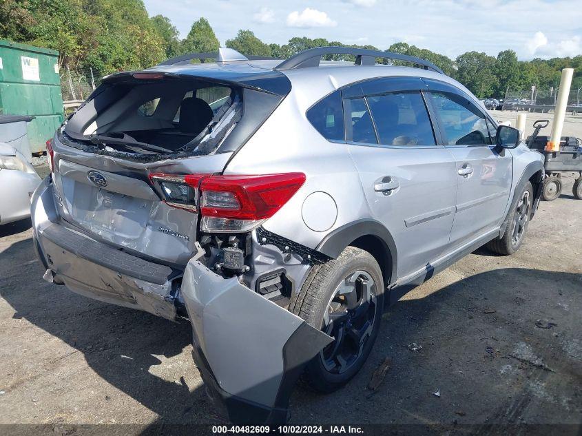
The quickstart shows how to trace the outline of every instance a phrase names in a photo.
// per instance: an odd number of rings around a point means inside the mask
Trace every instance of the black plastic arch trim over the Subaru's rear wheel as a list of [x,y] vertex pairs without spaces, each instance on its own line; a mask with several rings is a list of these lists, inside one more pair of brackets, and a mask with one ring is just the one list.
[[[396,243],[390,231],[382,223],[368,218],[349,222],[348,224],[337,227],[323,238],[322,242],[316,248],[320,253],[324,253],[330,258],[337,258],[340,253],[348,247],[351,242],[362,238],[362,236],[374,236],[386,250],[386,264],[382,265],[384,271],[390,271],[389,284],[396,282],[397,273],[397,250]],[[386,278],[384,278],[386,280]]]

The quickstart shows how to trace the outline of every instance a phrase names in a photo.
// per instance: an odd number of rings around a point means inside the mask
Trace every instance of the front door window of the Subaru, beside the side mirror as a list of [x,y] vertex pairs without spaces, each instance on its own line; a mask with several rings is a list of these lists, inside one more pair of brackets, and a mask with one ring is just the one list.
[[430,95],[448,145],[491,144],[486,117],[477,107],[452,94],[432,92]]

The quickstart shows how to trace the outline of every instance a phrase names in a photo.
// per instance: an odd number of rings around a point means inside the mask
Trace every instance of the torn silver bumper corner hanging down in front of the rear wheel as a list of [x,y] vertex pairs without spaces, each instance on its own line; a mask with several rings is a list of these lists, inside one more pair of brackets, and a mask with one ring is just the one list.
[[333,338],[195,258],[187,264],[182,293],[194,360],[229,420],[284,423],[304,365]]

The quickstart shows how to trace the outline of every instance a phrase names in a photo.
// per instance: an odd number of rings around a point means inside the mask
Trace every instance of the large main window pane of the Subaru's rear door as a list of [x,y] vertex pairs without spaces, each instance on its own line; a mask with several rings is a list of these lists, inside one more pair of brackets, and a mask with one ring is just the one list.
[[419,92],[368,96],[368,105],[384,145],[436,145],[424,100]]

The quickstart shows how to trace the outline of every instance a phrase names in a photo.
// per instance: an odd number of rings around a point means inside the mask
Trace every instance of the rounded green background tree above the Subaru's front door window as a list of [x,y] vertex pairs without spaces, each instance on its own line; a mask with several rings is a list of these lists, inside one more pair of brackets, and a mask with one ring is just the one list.
[[493,56],[485,53],[466,52],[457,56],[457,80],[469,88],[477,98],[487,98],[499,86],[495,75]]

